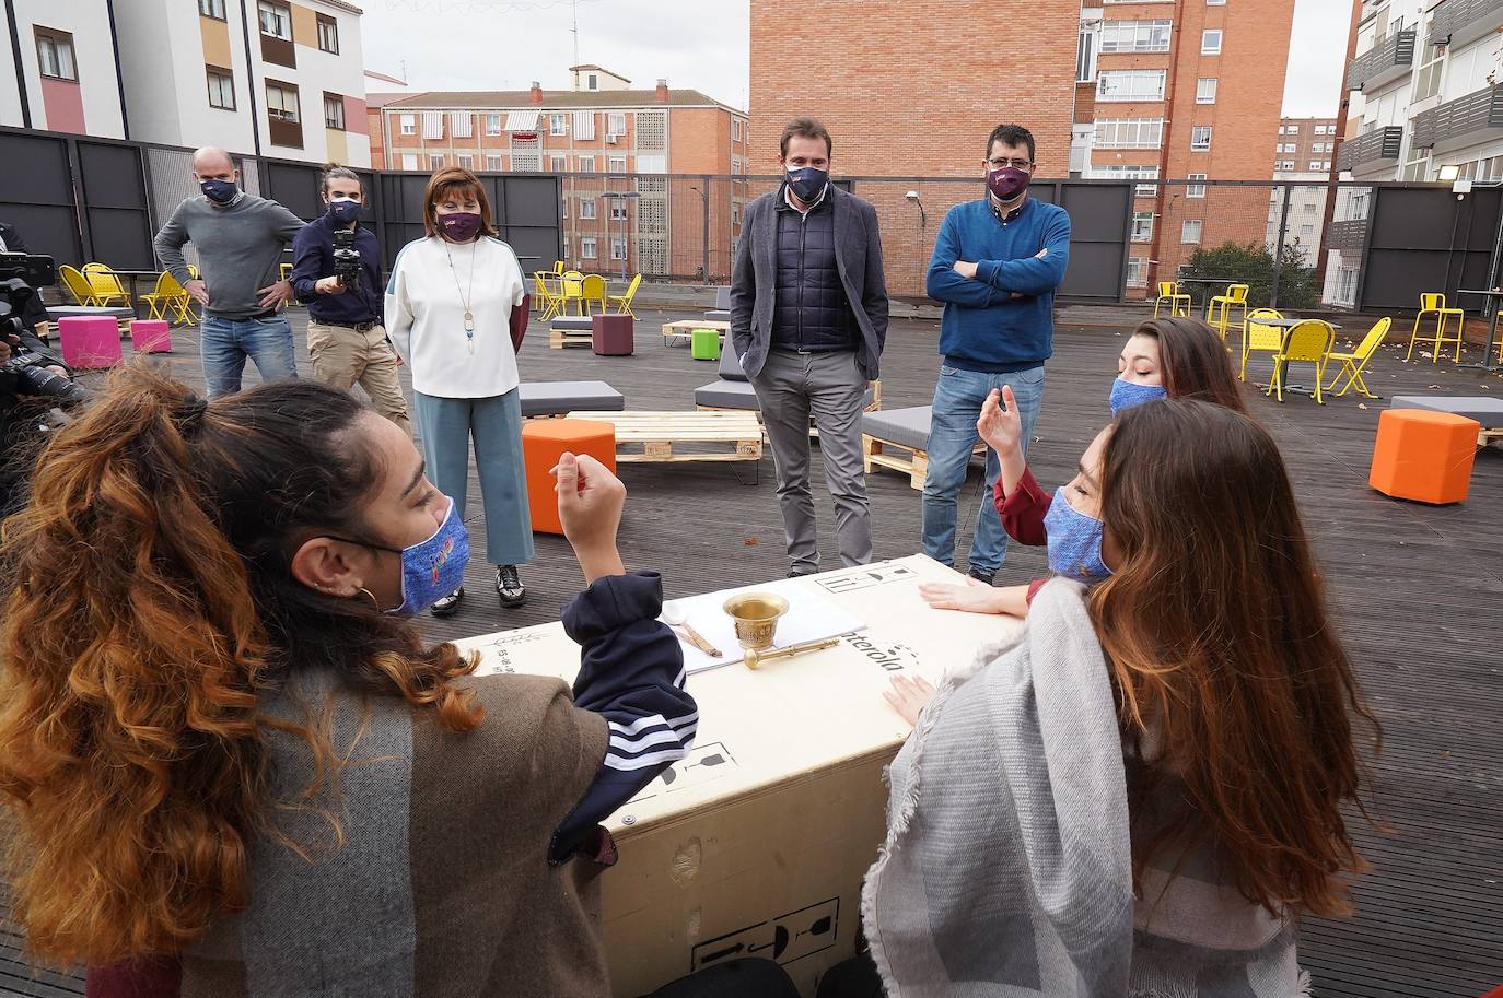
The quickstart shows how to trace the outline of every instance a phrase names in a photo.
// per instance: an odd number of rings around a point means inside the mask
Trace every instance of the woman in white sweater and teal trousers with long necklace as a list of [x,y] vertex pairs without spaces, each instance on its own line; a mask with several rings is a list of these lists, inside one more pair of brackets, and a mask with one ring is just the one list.
[[[475,440],[496,595],[504,607],[519,607],[528,591],[517,565],[532,561],[517,376],[528,295],[517,254],[490,219],[473,173],[446,167],[433,174],[422,197],[428,234],[401,248],[386,286],[386,331],[412,371],[428,475],[461,519]],[[460,586],[433,615],[451,616],[463,598]]]

